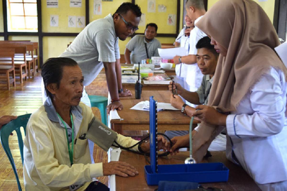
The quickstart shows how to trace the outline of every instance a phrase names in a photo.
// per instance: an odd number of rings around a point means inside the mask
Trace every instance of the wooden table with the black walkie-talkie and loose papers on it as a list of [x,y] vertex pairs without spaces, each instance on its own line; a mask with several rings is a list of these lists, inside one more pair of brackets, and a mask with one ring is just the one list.
[[[124,109],[118,110],[119,116],[124,120],[110,120],[111,128],[122,134],[123,130],[149,130],[150,117],[148,111],[139,111],[130,109],[141,101],[150,100],[150,96],[158,102],[169,103],[171,93],[169,91],[151,91],[144,90],[141,93],[141,99],[135,99],[134,90],[131,90],[133,96],[121,97],[121,103]],[[159,111],[158,112],[158,130],[189,130],[190,117],[185,116],[181,111]],[[196,124],[198,121],[194,121]]]

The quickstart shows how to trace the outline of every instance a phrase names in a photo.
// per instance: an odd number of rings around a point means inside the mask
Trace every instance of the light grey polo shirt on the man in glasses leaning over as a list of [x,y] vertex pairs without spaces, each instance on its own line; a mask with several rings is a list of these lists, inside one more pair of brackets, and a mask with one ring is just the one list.
[[104,67],[103,62],[120,59],[119,38],[112,15],[88,24],[60,57],[75,60],[82,69],[84,86],[89,85]]

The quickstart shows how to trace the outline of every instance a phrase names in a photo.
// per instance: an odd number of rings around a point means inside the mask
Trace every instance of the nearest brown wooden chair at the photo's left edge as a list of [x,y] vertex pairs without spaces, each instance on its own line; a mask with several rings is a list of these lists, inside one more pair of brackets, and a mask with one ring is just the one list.
[[5,74],[5,76],[0,76],[0,79],[6,79],[7,80],[7,88],[10,90],[10,76],[9,73],[12,72],[12,80],[13,86],[16,86],[16,80],[15,80],[15,66],[14,66],[14,54],[15,54],[15,48],[0,48],[0,58],[11,58],[11,64],[2,64],[0,61],[0,74]]

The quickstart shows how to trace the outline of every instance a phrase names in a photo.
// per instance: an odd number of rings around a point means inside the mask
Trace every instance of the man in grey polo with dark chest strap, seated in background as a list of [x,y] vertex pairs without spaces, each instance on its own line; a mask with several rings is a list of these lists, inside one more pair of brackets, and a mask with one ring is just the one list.
[[149,23],[146,25],[144,35],[136,35],[127,43],[125,50],[127,64],[141,63],[141,60],[159,56],[158,48],[161,48],[161,44],[155,38],[157,31],[158,26],[155,23]]

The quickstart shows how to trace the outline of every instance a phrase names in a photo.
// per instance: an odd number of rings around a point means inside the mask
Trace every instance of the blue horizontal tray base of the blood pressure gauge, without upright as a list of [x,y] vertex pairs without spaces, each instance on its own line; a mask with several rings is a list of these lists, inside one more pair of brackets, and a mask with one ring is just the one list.
[[158,185],[161,180],[182,182],[226,182],[229,169],[223,163],[158,165],[158,173],[152,173],[150,165],[145,167],[148,185]]

